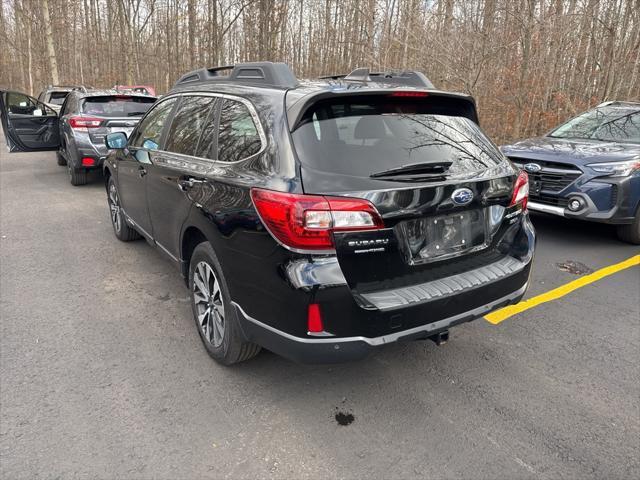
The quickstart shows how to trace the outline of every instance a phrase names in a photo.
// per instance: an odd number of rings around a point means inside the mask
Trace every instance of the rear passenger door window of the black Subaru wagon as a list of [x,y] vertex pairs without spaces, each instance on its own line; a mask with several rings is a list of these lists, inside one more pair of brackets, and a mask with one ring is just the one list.
[[195,155],[198,139],[211,117],[214,103],[214,97],[184,97],[171,124],[164,149],[183,155]]

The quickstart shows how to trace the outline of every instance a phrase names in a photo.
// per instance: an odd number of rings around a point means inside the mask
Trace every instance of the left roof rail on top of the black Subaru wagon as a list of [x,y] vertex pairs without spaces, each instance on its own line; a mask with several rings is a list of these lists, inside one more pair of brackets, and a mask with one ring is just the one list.
[[[231,72],[222,75],[220,72],[225,70]],[[173,88],[210,82],[239,82],[278,88],[293,88],[298,84],[286,63],[250,62],[193,70],[180,77]]]

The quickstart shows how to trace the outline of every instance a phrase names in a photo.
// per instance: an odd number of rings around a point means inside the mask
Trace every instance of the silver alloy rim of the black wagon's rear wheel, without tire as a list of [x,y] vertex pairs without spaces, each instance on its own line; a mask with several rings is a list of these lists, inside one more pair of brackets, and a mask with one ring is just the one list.
[[207,262],[199,262],[193,271],[193,301],[202,336],[214,347],[224,339],[224,300],[220,282]]

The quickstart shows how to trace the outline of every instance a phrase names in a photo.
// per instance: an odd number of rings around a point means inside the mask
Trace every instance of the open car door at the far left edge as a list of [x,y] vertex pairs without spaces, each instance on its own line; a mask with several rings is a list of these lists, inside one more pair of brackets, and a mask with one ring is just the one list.
[[57,150],[58,114],[20,92],[0,90],[0,118],[10,152]]

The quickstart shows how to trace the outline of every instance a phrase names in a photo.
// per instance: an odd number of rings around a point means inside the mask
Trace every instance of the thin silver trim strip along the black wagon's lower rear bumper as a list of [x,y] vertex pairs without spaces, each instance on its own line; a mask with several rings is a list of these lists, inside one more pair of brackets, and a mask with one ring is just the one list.
[[329,344],[329,345],[336,344],[336,343],[344,343],[344,342],[365,342],[371,345],[372,347],[377,347],[387,343],[396,342],[400,338],[406,337],[407,335],[413,335],[416,333],[423,333],[423,332],[429,333],[437,330],[446,329],[452,326],[453,324],[459,322],[460,320],[463,320],[464,318],[469,316],[475,317],[475,318],[482,317],[483,315],[486,315],[487,313],[489,313],[491,310],[494,310],[498,305],[514,300],[519,296],[523,295],[524,292],[527,290],[528,285],[529,283],[527,282],[521,288],[519,288],[515,292],[510,293],[509,295],[505,295],[504,297],[499,298],[498,300],[495,300],[487,305],[483,305],[473,310],[469,310],[467,312],[454,315],[453,317],[445,318],[443,320],[438,320],[437,322],[428,323],[426,325],[420,325],[418,327],[410,328],[409,330],[402,330],[400,332],[394,332],[388,335],[383,335],[381,337],[374,337],[374,338],[360,337],[360,336],[338,337],[338,338],[335,338],[335,337],[334,338],[300,338],[300,337],[291,335],[289,333],[283,332],[281,330],[278,330],[277,328],[274,328],[265,323],[262,323],[261,321],[256,320],[253,317],[250,317],[242,309],[242,307],[238,305],[236,302],[231,302],[231,303],[238,309],[238,311],[245,318],[245,320],[251,323],[254,323],[255,325],[261,328],[269,330],[270,332],[275,333],[276,335],[280,335],[281,337],[286,338],[287,340],[290,340],[292,342],[305,343],[305,344]]

